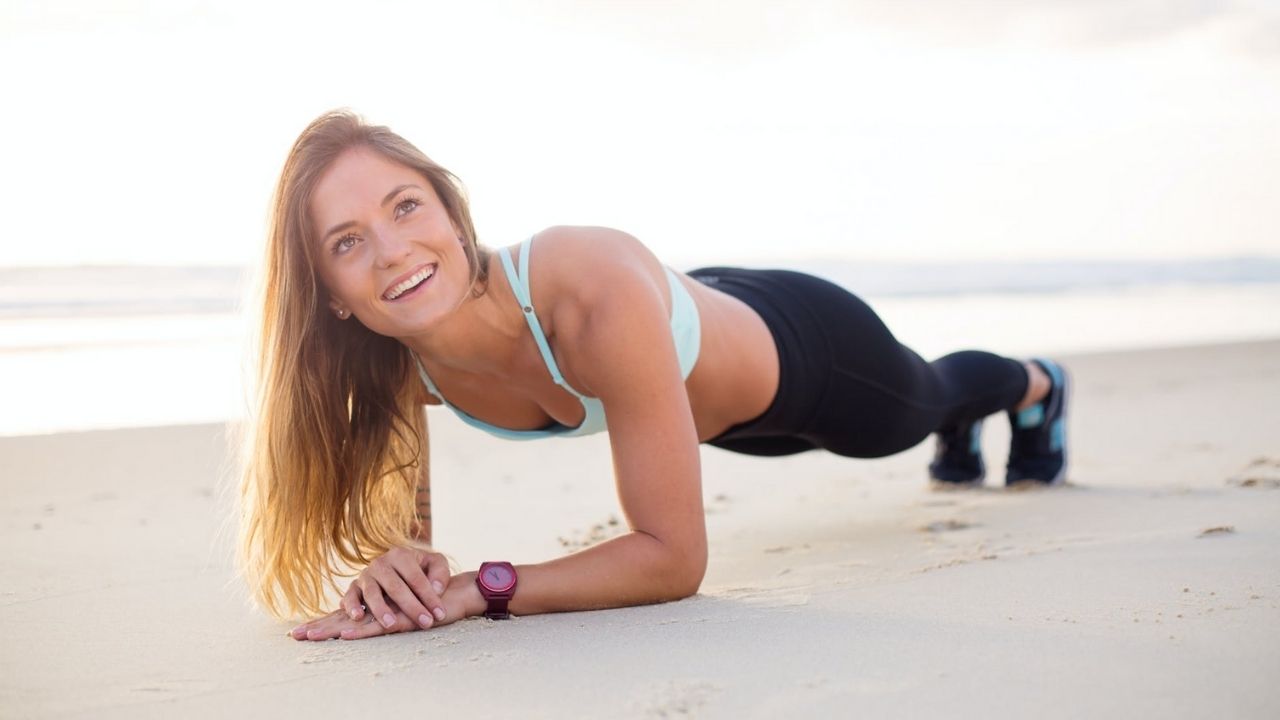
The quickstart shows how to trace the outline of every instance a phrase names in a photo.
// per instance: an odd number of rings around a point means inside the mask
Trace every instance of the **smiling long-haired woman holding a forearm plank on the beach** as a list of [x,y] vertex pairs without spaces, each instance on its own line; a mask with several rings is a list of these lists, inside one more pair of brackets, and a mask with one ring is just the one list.
[[[682,275],[617,231],[550,228],[486,250],[457,179],[349,113],[294,143],[268,245],[246,575],[274,614],[315,615],[343,568],[364,566],[297,639],[690,596],[707,566],[699,442],[878,457],[937,432],[934,480],[977,484],[980,420],[1006,410],[1006,480],[1065,471],[1056,364],[925,363],[831,283]],[[430,550],[424,404],[518,439],[607,428],[630,532],[451,577]]]

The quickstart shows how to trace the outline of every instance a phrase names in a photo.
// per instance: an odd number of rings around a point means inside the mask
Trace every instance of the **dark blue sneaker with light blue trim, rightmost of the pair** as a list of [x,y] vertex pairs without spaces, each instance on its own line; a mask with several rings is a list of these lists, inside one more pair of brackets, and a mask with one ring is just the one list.
[[1066,477],[1066,401],[1070,378],[1052,360],[1032,360],[1050,378],[1048,395],[1037,405],[1009,411],[1012,437],[1005,484],[1034,482],[1056,486]]

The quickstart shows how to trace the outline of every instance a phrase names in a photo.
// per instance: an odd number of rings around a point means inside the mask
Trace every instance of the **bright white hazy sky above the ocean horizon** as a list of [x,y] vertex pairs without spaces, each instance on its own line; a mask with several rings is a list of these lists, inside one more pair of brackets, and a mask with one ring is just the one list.
[[481,241],[668,263],[1280,255],[1274,0],[0,0],[0,266],[252,265],[348,106]]

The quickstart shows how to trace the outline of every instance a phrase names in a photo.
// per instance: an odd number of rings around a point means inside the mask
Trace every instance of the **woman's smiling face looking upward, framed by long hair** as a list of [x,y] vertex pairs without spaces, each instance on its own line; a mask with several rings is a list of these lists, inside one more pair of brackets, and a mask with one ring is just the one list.
[[330,309],[369,329],[408,337],[467,296],[471,268],[458,232],[417,172],[352,149],[325,170],[311,200],[316,269]]

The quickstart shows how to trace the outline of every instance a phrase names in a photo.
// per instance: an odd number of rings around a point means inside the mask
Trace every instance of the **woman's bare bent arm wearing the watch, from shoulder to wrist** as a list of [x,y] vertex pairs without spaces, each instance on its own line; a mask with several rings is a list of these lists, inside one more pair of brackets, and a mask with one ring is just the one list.
[[518,566],[509,605],[517,615],[677,600],[698,592],[707,569],[698,432],[659,286],[662,268],[622,233],[564,232],[590,234],[557,237],[564,252],[540,245],[543,258],[562,265],[562,287],[572,288],[557,302],[566,322],[553,320],[562,369],[604,404],[618,500],[631,532]]

